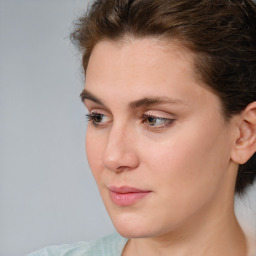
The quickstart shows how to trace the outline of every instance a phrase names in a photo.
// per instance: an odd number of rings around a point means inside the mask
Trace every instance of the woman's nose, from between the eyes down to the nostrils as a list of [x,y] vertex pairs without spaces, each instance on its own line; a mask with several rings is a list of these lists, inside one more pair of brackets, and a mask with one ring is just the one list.
[[139,165],[134,133],[128,127],[112,126],[103,154],[105,168],[115,172],[134,170]]

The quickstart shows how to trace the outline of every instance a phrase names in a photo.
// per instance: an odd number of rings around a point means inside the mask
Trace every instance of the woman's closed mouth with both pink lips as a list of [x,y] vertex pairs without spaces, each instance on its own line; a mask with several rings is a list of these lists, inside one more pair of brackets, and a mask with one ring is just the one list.
[[133,187],[109,187],[110,198],[118,206],[131,206],[148,196],[152,191]]

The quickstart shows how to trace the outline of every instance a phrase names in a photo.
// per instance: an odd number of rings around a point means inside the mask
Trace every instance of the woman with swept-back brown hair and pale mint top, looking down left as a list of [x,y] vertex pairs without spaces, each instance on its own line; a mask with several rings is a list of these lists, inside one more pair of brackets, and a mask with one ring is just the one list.
[[256,255],[234,214],[256,175],[255,4],[97,0],[72,39],[88,161],[122,237],[33,255]]

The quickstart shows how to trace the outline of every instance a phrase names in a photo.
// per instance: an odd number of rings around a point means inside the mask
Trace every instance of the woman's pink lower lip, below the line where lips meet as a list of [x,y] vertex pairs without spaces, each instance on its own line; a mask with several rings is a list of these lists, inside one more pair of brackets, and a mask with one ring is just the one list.
[[110,191],[112,201],[118,206],[130,206],[149,194],[150,192],[117,193]]

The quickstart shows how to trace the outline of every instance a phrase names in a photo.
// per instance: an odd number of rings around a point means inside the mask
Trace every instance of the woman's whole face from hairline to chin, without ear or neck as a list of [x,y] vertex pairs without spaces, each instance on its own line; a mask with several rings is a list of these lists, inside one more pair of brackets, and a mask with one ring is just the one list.
[[82,97],[89,165],[123,236],[164,236],[230,205],[232,125],[191,53],[154,38],[101,41]]

